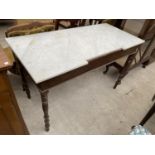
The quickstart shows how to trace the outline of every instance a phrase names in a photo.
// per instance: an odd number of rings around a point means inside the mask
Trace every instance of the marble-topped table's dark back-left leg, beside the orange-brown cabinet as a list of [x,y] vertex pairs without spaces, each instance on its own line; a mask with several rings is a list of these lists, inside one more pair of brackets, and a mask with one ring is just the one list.
[[21,65],[20,65],[20,75],[21,75],[21,80],[22,80],[23,91],[26,92],[27,97],[30,99],[31,94],[30,94],[30,89],[29,89],[27,79],[26,79],[26,72]]

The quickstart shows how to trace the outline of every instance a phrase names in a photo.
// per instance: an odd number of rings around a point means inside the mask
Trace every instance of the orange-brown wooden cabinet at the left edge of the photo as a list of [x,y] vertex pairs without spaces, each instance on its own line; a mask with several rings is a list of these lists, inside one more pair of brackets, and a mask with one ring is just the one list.
[[10,67],[8,58],[0,49],[0,134],[28,134],[7,76]]

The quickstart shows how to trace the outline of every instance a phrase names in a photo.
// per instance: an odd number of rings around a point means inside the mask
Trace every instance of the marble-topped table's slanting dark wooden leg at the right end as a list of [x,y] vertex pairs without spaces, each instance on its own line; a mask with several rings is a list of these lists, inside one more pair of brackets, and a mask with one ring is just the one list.
[[125,75],[128,73],[128,70],[130,68],[130,65],[132,64],[132,62],[134,61],[135,57],[136,57],[137,53],[131,54],[128,56],[123,68],[120,71],[120,75],[114,85],[114,89],[116,89],[116,87],[121,84],[121,80],[125,77]]

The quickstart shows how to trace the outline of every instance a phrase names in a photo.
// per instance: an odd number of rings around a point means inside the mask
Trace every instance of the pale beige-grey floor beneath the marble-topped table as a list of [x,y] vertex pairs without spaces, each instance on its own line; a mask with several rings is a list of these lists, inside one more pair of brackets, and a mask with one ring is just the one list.
[[[40,94],[29,81],[32,99],[22,91],[20,78],[10,74],[30,134],[124,135],[149,110],[155,93],[155,63],[130,71],[116,90],[115,69],[103,75],[104,67],[87,72],[50,89],[50,132],[44,131]],[[155,133],[155,117],[145,125]]]

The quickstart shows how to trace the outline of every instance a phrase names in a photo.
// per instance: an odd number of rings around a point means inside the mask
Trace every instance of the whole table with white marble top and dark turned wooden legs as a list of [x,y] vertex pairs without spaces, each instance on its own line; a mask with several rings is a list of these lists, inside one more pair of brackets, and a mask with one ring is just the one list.
[[44,112],[45,129],[49,130],[48,90],[61,82],[129,55],[117,84],[127,74],[137,47],[143,40],[109,24],[99,24],[6,38],[22,64],[22,78],[28,96],[24,72],[38,87]]

